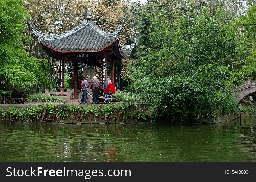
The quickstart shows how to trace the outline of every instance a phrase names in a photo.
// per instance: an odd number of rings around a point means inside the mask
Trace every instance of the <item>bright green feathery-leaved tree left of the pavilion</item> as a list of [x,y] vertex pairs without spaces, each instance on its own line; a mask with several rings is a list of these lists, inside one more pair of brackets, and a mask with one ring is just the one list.
[[41,69],[41,64],[49,66],[48,62],[30,57],[24,49],[30,38],[24,35],[29,13],[21,6],[23,1],[0,3],[0,79],[25,89],[38,84],[50,87],[52,81]]

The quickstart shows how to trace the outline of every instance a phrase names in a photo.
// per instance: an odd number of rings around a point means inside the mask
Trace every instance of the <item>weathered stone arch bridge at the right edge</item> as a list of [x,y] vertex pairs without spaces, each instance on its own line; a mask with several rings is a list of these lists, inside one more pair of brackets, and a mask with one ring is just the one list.
[[237,97],[237,102],[240,103],[241,99],[256,93],[256,80],[248,80],[243,82],[238,87],[239,91],[234,92]]

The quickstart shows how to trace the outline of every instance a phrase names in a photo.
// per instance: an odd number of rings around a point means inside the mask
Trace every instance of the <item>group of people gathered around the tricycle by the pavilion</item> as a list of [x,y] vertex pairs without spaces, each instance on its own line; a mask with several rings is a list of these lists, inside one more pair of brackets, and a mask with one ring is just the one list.
[[97,79],[97,77],[94,76],[92,81],[88,84],[87,80],[89,77],[90,76],[88,76],[88,75],[83,76],[83,81],[82,81],[83,95],[82,95],[81,103],[87,104],[87,93],[88,93],[88,89],[90,87],[93,91],[93,103],[99,104],[99,92],[100,92],[100,95],[103,96],[104,89],[111,91],[111,89],[113,87],[112,82],[108,77],[107,80],[104,82],[104,87],[102,89],[100,89],[100,81]]

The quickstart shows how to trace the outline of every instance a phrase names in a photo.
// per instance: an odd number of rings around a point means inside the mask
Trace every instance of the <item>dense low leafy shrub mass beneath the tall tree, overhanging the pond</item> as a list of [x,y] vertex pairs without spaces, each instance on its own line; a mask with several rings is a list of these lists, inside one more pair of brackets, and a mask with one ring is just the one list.
[[[150,104],[149,109],[157,116],[184,115],[186,112],[200,113],[206,111],[214,114],[235,113],[236,102],[231,94],[221,93],[215,87],[214,80],[200,75],[173,75],[155,78],[145,75],[134,82],[137,100]],[[145,87],[145,83],[148,83]],[[225,88],[225,87],[224,87]]]

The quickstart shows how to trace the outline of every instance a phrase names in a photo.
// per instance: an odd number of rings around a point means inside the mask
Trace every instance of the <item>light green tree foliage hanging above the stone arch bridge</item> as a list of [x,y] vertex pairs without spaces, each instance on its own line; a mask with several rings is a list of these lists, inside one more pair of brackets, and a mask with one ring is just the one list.
[[239,44],[237,46],[237,60],[242,60],[244,66],[234,72],[234,75],[227,83],[227,87],[233,87],[234,83],[240,82],[241,78],[253,77],[256,73],[256,3],[250,1],[250,6],[246,15],[240,16],[238,20],[232,22],[227,28],[227,35],[224,42],[229,37],[237,37]]

